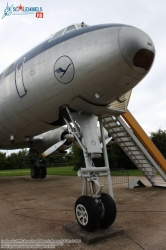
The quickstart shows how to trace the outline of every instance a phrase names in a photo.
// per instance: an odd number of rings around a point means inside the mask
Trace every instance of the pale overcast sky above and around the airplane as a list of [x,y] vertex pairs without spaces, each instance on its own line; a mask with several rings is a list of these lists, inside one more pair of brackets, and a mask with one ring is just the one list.
[[[42,7],[35,15],[7,16],[7,5]],[[156,58],[149,74],[132,93],[129,110],[149,133],[166,129],[166,1],[165,0],[0,0],[0,72],[34,45],[72,23],[123,23],[145,31]]]

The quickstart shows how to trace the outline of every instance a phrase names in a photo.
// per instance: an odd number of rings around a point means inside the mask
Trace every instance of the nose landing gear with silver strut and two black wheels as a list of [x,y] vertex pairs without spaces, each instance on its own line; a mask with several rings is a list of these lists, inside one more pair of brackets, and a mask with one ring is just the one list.
[[[67,113],[66,113],[67,111]],[[68,107],[62,110],[62,116],[79,146],[83,150],[85,168],[78,171],[78,176],[84,179],[82,196],[75,203],[75,216],[78,224],[86,231],[93,232],[97,228],[107,228],[116,218],[116,204],[113,199],[112,181],[110,177],[104,129],[99,118],[102,145],[97,133],[98,118],[91,114],[71,112]],[[71,123],[73,126],[71,126]],[[105,166],[95,167],[93,158],[104,155]],[[103,193],[104,186],[108,193]]]

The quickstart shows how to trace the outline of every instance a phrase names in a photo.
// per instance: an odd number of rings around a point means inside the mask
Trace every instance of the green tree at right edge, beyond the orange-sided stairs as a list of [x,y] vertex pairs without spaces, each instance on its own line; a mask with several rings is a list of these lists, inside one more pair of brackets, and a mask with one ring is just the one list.
[[166,130],[159,129],[157,132],[151,132],[150,138],[166,158]]

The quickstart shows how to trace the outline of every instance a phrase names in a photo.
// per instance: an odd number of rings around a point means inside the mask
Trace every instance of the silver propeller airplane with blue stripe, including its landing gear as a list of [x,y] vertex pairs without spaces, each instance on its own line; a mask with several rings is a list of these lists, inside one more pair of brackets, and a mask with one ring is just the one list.
[[[118,112],[112,104],[125,101],[154,57],[151,38],[136,27],[82,22],[51,35],[0,74],[0,149],[30,148],[34,179],[47,174],[41,156],[64,152],[75,141],[83,150],[78,175],[84,182],[74,209],[86,231],[108,228],[116,218],[102,117]],[[105,166],[95,167],[102,154]],[[102,192],[100,176],[107,177],[109,193]]]

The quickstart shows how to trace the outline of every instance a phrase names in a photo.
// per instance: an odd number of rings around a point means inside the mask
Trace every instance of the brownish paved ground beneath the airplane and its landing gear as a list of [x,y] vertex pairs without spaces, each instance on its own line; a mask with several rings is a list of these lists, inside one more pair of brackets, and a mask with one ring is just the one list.
[[[5,239],[72,240],[63,225],[76,221],[73,206],[81,186],[77,177],[1,177],[1,243]],[[166,189],[149,186],[129,190],[127,184],[114,185],[114,196],[118,209],[115,226],[124,228],[124,234],[95,245],[68,242],[56,249],[165,250]]]

